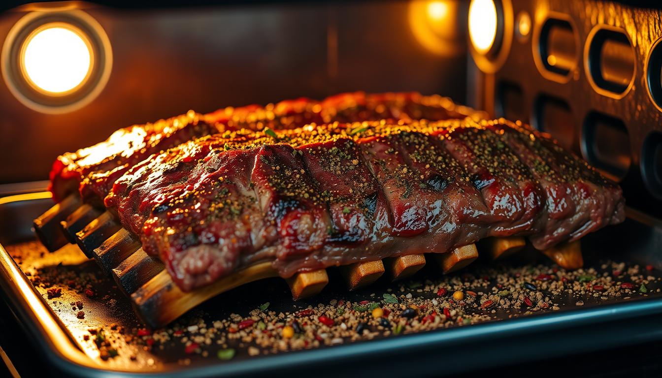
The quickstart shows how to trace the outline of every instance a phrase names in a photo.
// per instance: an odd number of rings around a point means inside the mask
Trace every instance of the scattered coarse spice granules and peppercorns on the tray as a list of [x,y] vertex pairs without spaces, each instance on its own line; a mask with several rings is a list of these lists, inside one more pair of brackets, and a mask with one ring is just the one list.
[[[614,262],[577,271],[549,265],[481,265],[455,275],[391,285],[386,293],[366,294],[356,301],[331,299],[289,312],[270,310],[273,306],[267,302],[245,316],[230,314],[211,321],[209,315],[189,314],[173,326],[153,332],[142,327],[124,330],[117,324],[117,329],[110,326],[109,332],[124,339],[131,348],[126,356],[132,361],[144,362],[136,357],[135,348],[151,351],[166,347],[180,348],[182,356],[232,359],[240,350],[249,356],[275,354],[556,311],[563,305],[583,304],[587,297],[599,303],[647,296],[660,292],[662,278],[651,274],[647,267]],[[103,279],[107,278],[71,271],[60,274],[57,269],[30,275],[34,285],[45,289],[49,298],[61,293],[58,285],[69,287],[88,301],[99,301],[101,295],[97,296],[95,287]],[[453,295],[455,292],[461,295]],[[104,299],[107,303],[115,301],[108,295],[101,301]],[[73,305],[83,312],[82,301]],[[293,330],[291,337],[283,334],[285,328]],[[101,328],[88,331],[102,359],[122,353]],[[85,335],[83,340],[90,336]],[[188,365],[191,358],[179,359],[179,363]]]

